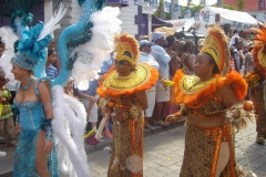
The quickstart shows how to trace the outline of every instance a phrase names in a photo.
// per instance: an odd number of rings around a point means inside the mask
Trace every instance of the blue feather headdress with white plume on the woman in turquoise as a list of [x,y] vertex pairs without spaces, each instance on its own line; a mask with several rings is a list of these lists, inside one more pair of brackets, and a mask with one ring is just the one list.
[[40,23],[29,29],[28,25],[33,19],[30,10],[38,2],[39,0],[9,0],[1,12],[10,18],[10,27],[19,37],[19,41],[14,43],[16,55],[11,62],[27,70],[33,70],[38,62],[45,63],[51,33],[60,28],[58,22],[66,13],[64,6],[60,4],[58,13],[49,23]]

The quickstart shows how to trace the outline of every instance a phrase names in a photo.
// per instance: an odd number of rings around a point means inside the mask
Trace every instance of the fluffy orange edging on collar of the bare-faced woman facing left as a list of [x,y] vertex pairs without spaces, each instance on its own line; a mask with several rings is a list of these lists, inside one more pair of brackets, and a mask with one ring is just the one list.
[[242,101],[247,92],[247,83],[243,79],[243,76],[237,72],[231,72],[227,74],[226,77],[223,77],[222,75],[215,75],[216,81],[211,83],[206,88],[203,88],[202,91],[195,93],[195,94],[185,94],[181,90],[181,80],[184,76],[182,71],[177,71],[174,76],[174,93],[175,93],[175,101],[180,104],[185,104],[190,107],[194,107],[195,103],[203,105],[204,100],[208,97],[209,95],[214,94],[214,92],[224,86],[224,85],[231,85],[234,90],[237,98]]

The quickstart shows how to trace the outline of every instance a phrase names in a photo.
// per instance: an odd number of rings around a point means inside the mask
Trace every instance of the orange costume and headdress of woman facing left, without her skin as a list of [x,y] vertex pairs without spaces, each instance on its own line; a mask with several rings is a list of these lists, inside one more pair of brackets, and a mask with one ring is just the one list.
[[[215,176],[216,165],[222,142],[227,142],[229,147],[229,160],[223,169],[221,176],[235,177],[236,162],[234,155],[234,132],[232,127],[241,129],[247,125],[247,119],[253,118],[253,114],[243,110],[241,101],[246,95],[247,84],[243,76],[236,72],[228,73],[229,69],[229,49],[228,42],[219,27],[208,28],[208,35],[204,41],[201,53],[209,54],[221,74],[201,82],[200,77],[194,75],[184,75],[177,71],[174,76],[174,93],[178,104],[183,104],[175,118],[180,116],[198,117],[204,119],[226,118],[227,107],[219,100],[215,92],[229,85],[239,101],[239,104],[233,105],[239,116],[232,123],[225,123],[222,126],[204,128],[187,121],[187,131],[185,138],[184,159],[181,169],[181,177],[187,176]],[[172,119],[172,121],[175,121]]]

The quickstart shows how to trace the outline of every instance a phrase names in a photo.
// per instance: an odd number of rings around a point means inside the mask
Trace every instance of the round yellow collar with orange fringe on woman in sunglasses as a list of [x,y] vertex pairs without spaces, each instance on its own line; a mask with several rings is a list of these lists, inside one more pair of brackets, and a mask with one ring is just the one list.
[[157,71],[144,63],[137,63],[136,71],[125,77],[119,76],[113,66],[111,71],[103,76],[103,82],[98,87],[98,94],[103,97],[119,96],[150,90],[157,82]]

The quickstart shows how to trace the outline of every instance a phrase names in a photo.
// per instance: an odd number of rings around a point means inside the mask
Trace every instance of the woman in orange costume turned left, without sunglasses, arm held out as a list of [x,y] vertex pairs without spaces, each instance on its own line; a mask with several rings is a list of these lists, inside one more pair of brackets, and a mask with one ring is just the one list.
[[197,55],[195,75],[177,71],[174,77],[176,102],[182,110],[166,123],[186,116],[185,152],[181,177],[236,177],[233,128],[246,125],[242,101],[247,84],[236,72],[228,73],[228,41],[219,27],[208,35]]

